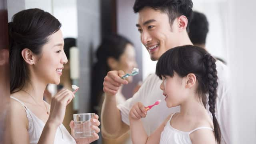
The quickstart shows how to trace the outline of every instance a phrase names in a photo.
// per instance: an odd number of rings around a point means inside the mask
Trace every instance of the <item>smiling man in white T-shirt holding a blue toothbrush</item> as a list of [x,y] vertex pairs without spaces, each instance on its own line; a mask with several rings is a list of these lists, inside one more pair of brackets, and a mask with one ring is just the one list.
[[[191,0],[136,0],[134,12],[138,12],[138,31],[141,34],[142,44],[150,54],[151,60],[158,60],[170,48],[182,45],[192,45],[188,37],[188,26],[192,16]],[[222,142],[230,143],[230,120],[227,96],[226,66],[217,61],[219,86],[216,99],[216,117],[222,131]],[[102,134],[105,137],[117,138],[129,130],[129,111],[135,102],[142,102],[145,106],[154,104],[156,100],[162,102],[150,111],[140,111],[138,117],[142,118],[147,134],[151,134],[172,112],[179,111],[179,106],[167,108],[164,102],[160,84],[162,81],[152,74],[142,84],[139,91],[124,104],[116,107],[115,94],[121,84],[127,84],[120,76],[122,71],[110,71],[104,78],[104,92],[106,98],[102,106]],[[138,108],[139,110],[139,108]]]

